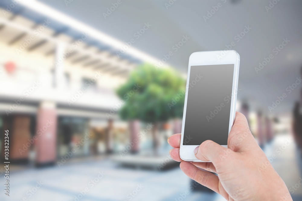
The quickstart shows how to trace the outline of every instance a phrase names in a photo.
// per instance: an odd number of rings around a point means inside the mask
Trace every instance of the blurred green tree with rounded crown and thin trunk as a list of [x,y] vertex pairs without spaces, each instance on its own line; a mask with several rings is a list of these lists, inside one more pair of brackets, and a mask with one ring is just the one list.
[[175,70],[156,69],[151,64],[143,64],[117,89],[117,95],[125,101],[120,109],[120,117],[130,121],[152,122],[153,149],[157,153],[157,124],[182,117],[184,92],[185,79]]

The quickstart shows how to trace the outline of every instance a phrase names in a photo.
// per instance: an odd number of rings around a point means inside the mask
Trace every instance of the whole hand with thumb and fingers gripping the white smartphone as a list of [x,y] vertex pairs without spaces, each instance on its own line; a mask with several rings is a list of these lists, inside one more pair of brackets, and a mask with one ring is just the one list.
[[[201,128],[202,130],[202,128]],[[170,155],[191,179],[219,193],[227,200],[291,200],[284,181],[271,166],[249,130],[243,114],[236,112],[228,136],[228,148],[207,140],[195,150],[202,161],[185,162],[179,157],[181,134],[172,135]],[[207,171],[217,173],[218,176]]]

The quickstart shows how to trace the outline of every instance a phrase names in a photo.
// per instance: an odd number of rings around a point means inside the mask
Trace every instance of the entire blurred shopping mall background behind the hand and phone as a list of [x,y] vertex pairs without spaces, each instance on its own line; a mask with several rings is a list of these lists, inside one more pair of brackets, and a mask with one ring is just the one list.
[[0,161],[9,130],[11,196],[1,200],[224,200],[169,156],[182,103],[165,116],[159,93],[137,110],[127,101],[141,86],[185,83],[191,53],[225,49],[240,54],[236,110],[301,200],[302,2],[273,2],[2,0]]

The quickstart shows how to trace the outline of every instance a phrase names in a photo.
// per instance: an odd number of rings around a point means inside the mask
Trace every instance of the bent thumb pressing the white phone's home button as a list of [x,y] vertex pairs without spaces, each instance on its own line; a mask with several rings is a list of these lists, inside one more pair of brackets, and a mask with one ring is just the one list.
[[194,149],[195,157],[202,161],[210,161],[218,165],[225,159],[227,155],[232,154],[233,151],[223,147],[212,140],[206,140],[200,146]]

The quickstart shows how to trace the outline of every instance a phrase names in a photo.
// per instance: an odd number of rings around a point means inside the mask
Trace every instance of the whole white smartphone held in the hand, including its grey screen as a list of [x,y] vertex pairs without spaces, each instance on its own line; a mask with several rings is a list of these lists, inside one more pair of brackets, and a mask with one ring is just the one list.
[[227,147],[236,113],[239,54],[194,52],[189,58],[180,158],[203,162],[194,149],[205,140]]

